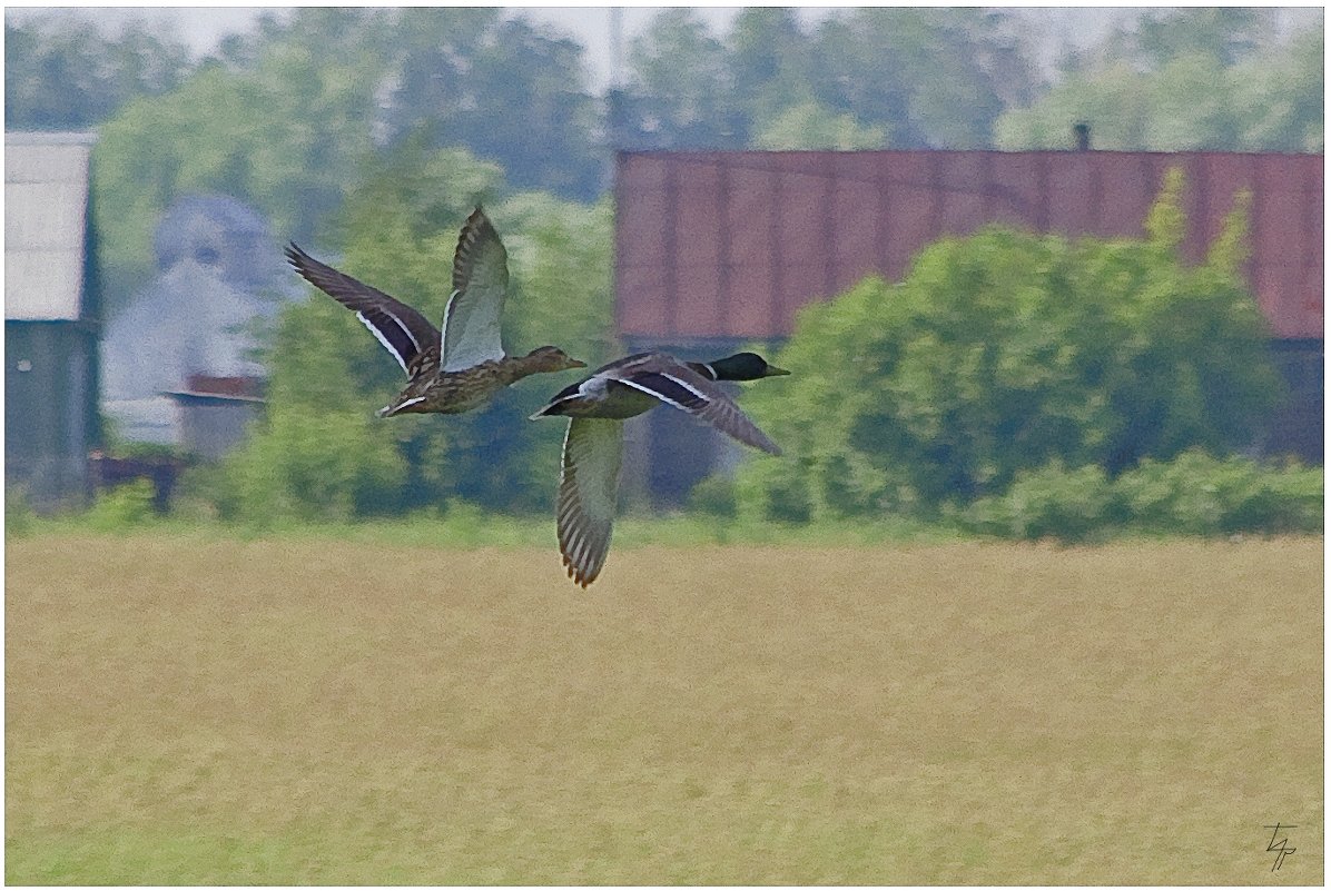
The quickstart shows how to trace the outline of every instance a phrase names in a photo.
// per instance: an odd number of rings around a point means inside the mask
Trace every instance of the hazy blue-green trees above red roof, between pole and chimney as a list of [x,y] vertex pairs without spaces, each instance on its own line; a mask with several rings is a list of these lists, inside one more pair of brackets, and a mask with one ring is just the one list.
[[1024,35],[1010,12],[864,8],[811,31],[793,9],[752,7],[717,40],[695,12],[668,9],[634,41],[624,141],[981,148],[1038,88]]

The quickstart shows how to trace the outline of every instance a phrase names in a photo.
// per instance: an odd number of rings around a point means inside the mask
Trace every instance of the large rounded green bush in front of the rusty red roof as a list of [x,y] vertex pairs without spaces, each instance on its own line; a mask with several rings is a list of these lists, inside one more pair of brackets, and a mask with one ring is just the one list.
[[741,471],[741,509],[937,516],[1051,461],[1117,476],[1247,447],[1279,378],[1234,274],[1242,241],[1181,262],[1181,188],[1169,178],[1145,241],[989,227],[926,247],[897,286],[807,307],[776,356],[792,376],[745,394],[789,457]]

